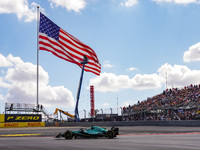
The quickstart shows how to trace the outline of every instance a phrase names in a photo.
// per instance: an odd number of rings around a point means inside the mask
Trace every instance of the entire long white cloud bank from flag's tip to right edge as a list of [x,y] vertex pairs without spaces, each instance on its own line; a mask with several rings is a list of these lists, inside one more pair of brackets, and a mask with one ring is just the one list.
[[159,89],[166,84],[167,87],[184,87],[190,84],[200,84],[200,70],[191,70],[183,65],[170,65],[168,63],[158,68],[154,74],[136,74],[133,78],[127,75],[102,73],[90,80],[99,92],[117,92],[123,89],[145,90]]

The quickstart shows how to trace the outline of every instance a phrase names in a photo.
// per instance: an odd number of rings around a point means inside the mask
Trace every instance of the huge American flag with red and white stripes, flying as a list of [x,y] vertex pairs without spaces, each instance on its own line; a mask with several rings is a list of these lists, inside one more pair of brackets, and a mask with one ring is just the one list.
[[39,50],[51,52],[57,57],[77,64],[80,68],[84,56],[88,58],[85,71],[100,75],[101,64],[95,51],[80,40],[64,31],[40,12]]

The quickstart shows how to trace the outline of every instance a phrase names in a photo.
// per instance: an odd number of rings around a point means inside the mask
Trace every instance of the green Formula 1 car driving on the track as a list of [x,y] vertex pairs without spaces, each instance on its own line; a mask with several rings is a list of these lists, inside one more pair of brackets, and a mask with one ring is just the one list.
[[65,139],[72,138],[98,138],[98,137],[106,137],[106,138],[114,138],[119,135],[119,128],[112,127],[110,130],[107,130],[98,126],[91,126],[90,129],[81,128],[78,131],[70,131],[66,130],[64,133],[58,133],[55,138],[64,137]]

